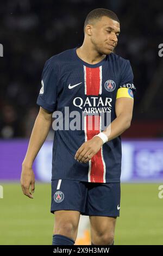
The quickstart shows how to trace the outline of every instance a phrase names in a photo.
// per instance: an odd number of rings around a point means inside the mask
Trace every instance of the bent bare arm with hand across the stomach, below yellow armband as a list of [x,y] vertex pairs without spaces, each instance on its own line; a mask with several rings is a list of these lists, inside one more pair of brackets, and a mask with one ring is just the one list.
[[[116,118],[107,127],[105,135],[108,141],[120,136],[124,131],[130,127],[133,115],[134,100],[128,97],[121,97],[116,100],[115,110]],[[103,141],[98,136],[93,137],[77,150],[75,159],[80,162],[88,162],[102,147]],[[88,157],[89,156],[89,157]]]

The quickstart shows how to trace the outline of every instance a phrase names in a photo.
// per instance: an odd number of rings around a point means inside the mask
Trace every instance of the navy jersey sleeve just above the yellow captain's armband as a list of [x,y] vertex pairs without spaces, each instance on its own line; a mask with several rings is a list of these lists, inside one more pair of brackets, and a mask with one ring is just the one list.
[[[131,69],[131,65],[129,60],[127,60],[123,65],[122,65],[122,70],[121,70],[121,81],[120,85],[118,87],[118,90],[121,88],[127,88],[129,89],[130,94],[135,94],[136,92],[136,87],[133,84],[134,80],[134,75],[133,75],[133,70]],[[120,90],[121,92],[124,92],[127,90]],[[118,95],[120,95],[120,91],[117,92]]]

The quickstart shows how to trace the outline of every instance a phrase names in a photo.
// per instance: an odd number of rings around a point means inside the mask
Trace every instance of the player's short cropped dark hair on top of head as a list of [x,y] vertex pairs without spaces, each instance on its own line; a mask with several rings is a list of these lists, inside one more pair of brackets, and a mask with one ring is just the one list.
[[101,20],[103,16],[109,17],[110,19],[120,23],[120,20],[118,19],[117,15],[113,11],[108,9],[98,8],[90,11],[90,13],[86,16],[86,19],[84,22],[84,33],[85,33],[86,25],[93,24],[96,21]]

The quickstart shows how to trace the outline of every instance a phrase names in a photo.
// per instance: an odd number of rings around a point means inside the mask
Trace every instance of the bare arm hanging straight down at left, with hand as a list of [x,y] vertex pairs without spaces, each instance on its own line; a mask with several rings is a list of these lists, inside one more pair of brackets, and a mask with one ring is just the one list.
[[[32,164],[38,154],[43,142],[48,135],[52,123],[52,113],[48,113],[40,107],[39,114],[35,120],[32,134],[30,136],[26,157],[22,163],[21,187],[23,193],[29,198],[33,198],[32,193],[35,188],[35,178]],[[29,188],[31,191],[29,191]]]

